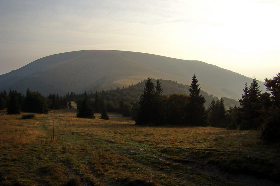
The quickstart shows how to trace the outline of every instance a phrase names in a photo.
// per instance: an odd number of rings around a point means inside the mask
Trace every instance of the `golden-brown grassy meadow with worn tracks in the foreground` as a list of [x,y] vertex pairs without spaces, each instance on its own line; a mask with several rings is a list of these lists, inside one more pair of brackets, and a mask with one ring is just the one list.
[[0,112],[0,185],[278,185],[279,144],[258,131],[143,127],[116,113]]

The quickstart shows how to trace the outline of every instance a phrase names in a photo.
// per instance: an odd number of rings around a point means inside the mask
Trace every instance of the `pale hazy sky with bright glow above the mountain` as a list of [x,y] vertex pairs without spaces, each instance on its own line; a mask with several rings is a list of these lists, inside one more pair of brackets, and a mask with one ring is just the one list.
[[68,51],[200,60],[261,81],[280,72],[279,0],[0,0],[0,74]]

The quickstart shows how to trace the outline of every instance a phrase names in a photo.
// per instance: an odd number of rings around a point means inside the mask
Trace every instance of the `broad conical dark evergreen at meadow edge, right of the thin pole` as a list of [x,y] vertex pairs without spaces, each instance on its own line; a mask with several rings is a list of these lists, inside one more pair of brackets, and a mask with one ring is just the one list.
[[90,105],[90,98],[88,97],[86,91],[84,94],[84,99],[82,100],[81,105],[79,106],[77,117],[95,118],[93,109]]

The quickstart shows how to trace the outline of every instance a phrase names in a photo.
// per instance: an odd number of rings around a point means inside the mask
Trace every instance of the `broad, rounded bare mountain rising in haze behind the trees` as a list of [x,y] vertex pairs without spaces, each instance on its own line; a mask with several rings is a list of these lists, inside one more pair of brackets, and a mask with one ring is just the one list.
[[[0,75],[0,91],[27,88],[44,95],[100,91],[126,87],[151,78],[190,85],[196,75],[201,89],[217,97],[239,99],[251,78],[202,61],[111,50],[84,50],[54,54]],[[261,90],[265,90],[259,82]]]

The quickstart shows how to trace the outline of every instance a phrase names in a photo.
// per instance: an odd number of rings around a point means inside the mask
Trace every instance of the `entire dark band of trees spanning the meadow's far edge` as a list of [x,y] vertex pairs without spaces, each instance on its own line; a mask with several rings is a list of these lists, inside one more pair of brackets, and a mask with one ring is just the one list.
[[[7,108],[8,114],[17,114],[20,111],[48,113],[54,105],[55,109],[72,108],[71,101],[75,100],[77,117],[95,118],[94,113],[101,113],[102,119],[109,119],[107,112],[118,112],[123,116],[132,117],[136,125],[214,126],[261,130],[265,141],[279,140],[279,137],[275,136],[279,136],[280,132],[280,73],[272,79],[265,79],[267,92],[264,93],[259,90],[257,80],[253,78],[249,86],[245,84],[244,94],[238,100],[240,106],[231,106],[227,110],[224,104],[226,98],[218,99],[213,96],[209,107],[205,108],[205,96],[195,75],[188,86],[189,95],[163,95],[161,80],[156,80],[156,86],[151,78],[138,84],[145,84],[144,91],[137,85],[91,92],[89,95],[86,91],[82,94],[71,92],[63,97],[57,94],[44,97],[39,92],[29,89],[26,96],[14,90],[10,90],[8,94],[3,91],[0,92],[0,109]],[[128,91],[131,89],[134,91]],[[135,100],[135,95],[140,98]]]

